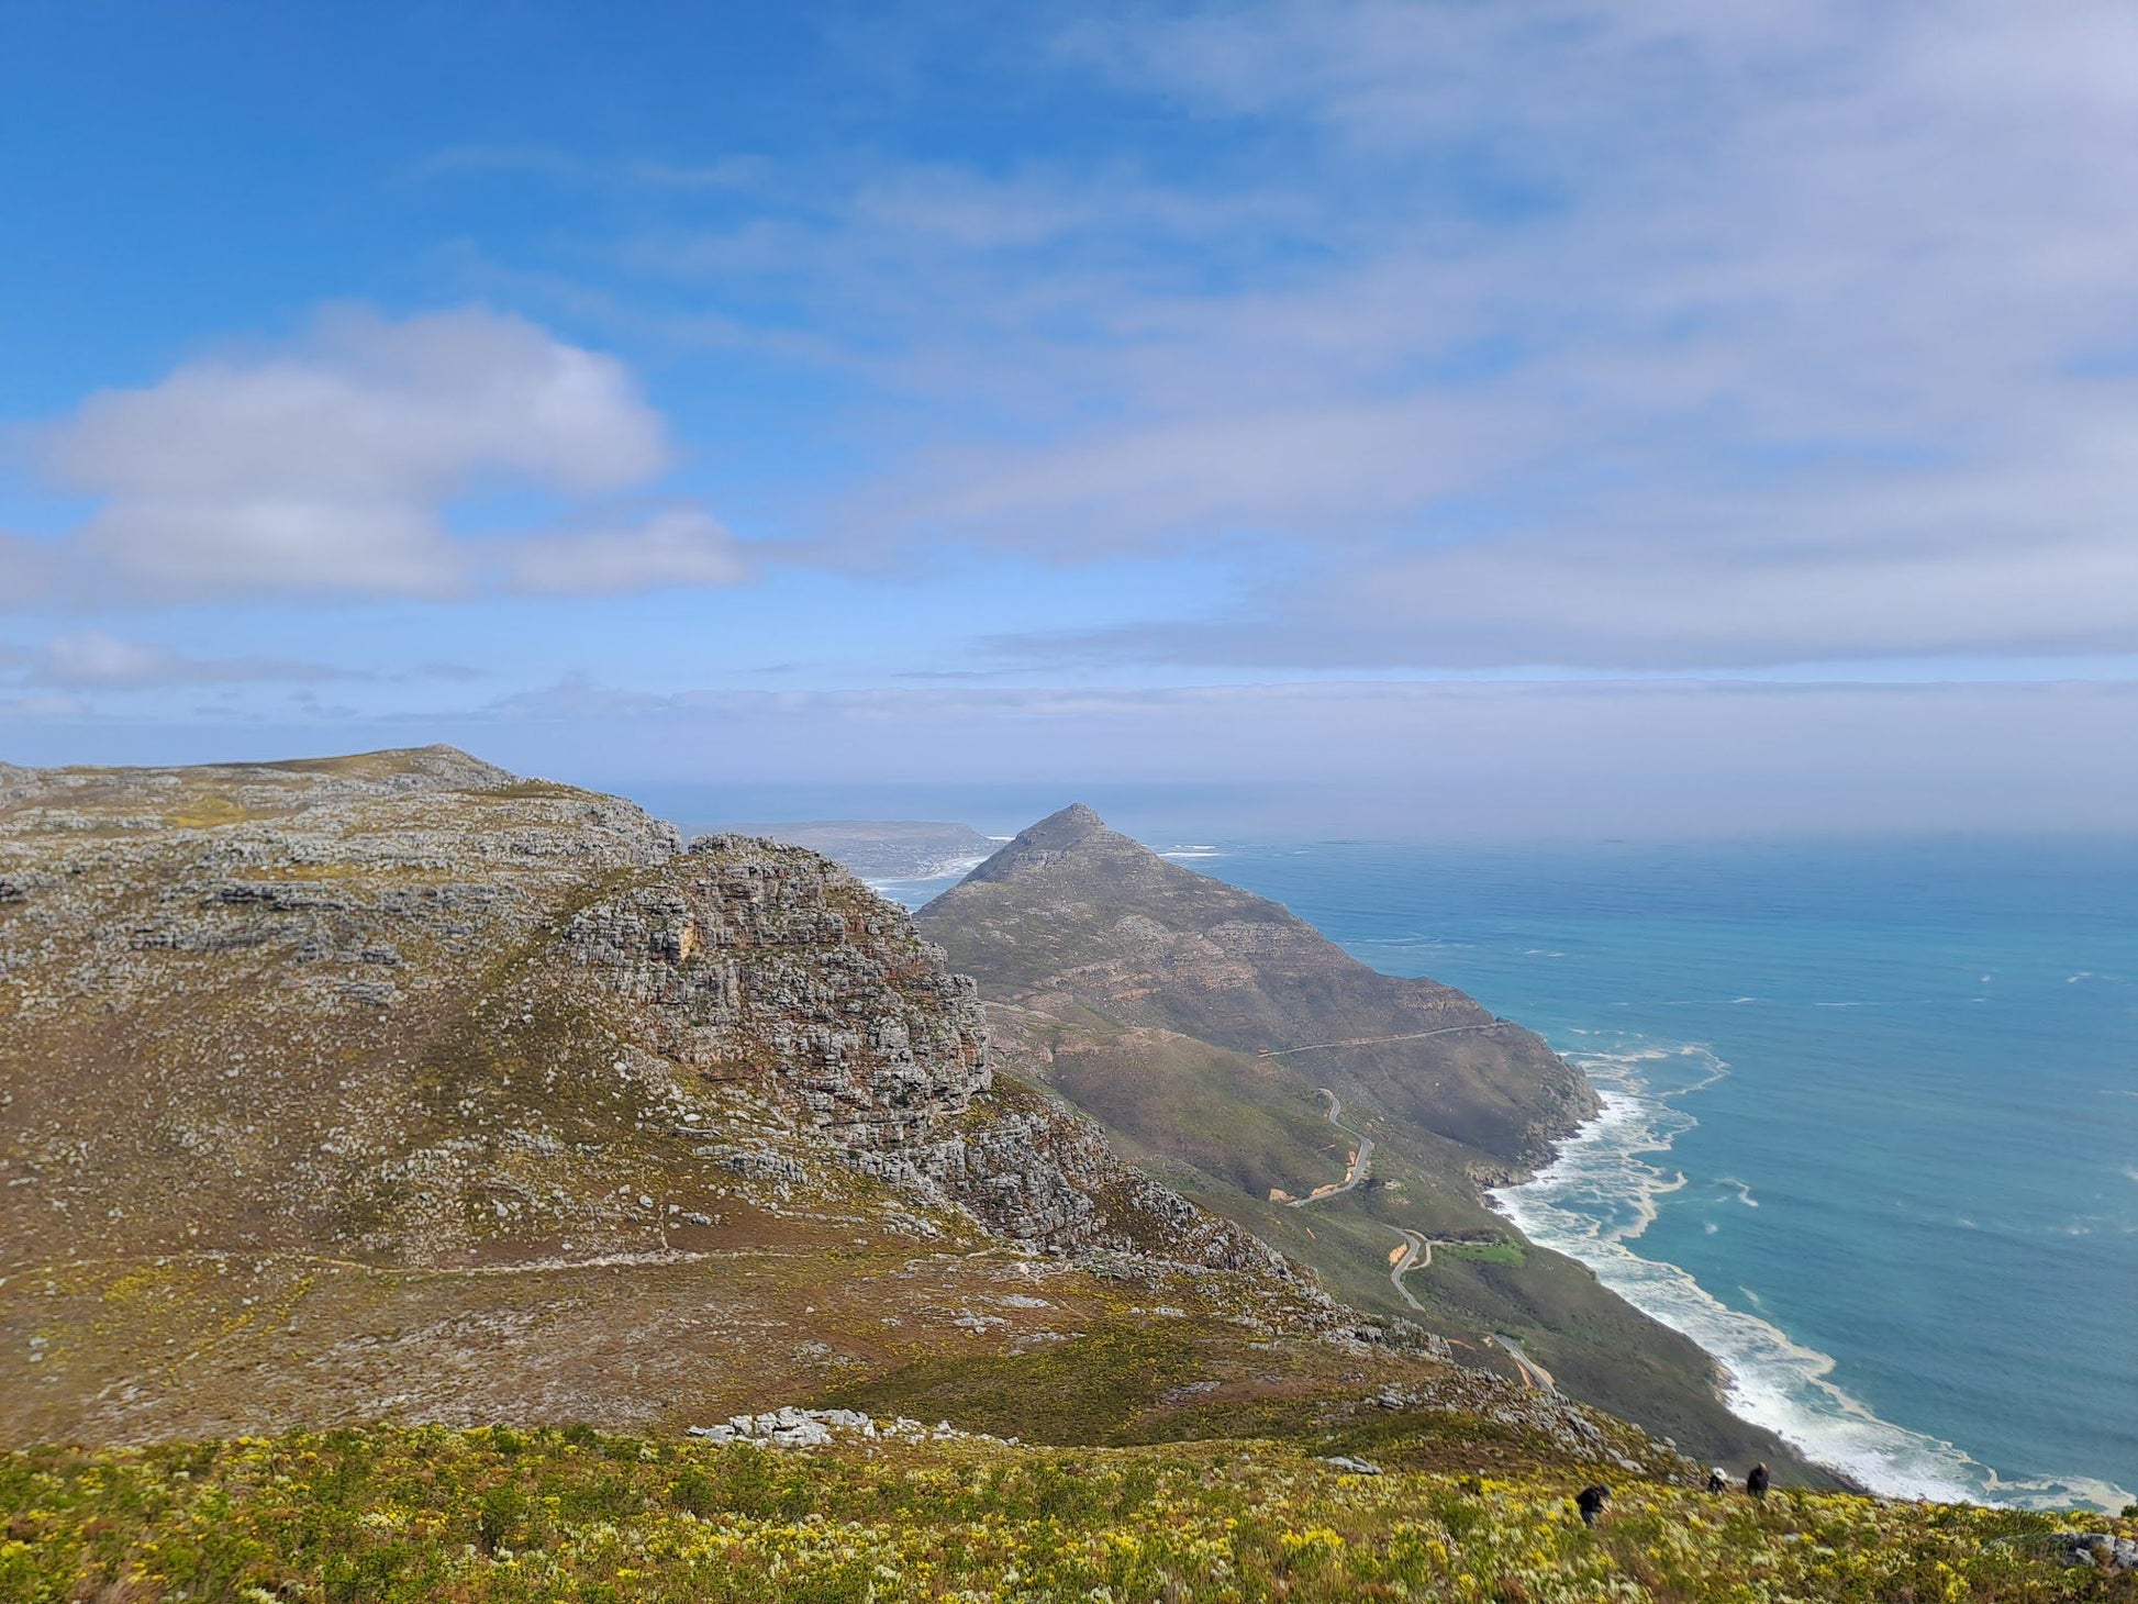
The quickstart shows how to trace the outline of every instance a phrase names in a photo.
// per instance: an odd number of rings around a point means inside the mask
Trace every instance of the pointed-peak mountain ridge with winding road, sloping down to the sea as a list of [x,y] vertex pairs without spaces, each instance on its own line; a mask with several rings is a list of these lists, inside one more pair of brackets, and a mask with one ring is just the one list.
[[[1689,1452],[1822,1476],[1723,1407],[1708,1354],[1490,1208],[1488,1189],[1527,1178],[1599,1110],[1535,1033],[1360,965],[1082,804],[915,924],[979,982],[1005,1065],[1334,1296],[1420,1320],[1505,1375],[1533,1354],[1559,1386]],[[1392,1275],[1407,1251],[1417,1268]]]

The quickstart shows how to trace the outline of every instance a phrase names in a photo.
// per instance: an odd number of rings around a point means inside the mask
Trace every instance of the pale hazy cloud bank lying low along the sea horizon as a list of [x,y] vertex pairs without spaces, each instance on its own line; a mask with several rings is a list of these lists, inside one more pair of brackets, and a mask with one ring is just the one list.
[[2127,834],[2138,791],[2138,687],[2070,682],[656,697],[567,680],[361,727],[75,719],[13,734],[6,759],[45,764],[107,761],[113,742],[167,764],[445,740],[693,826],[949,808],[1009,830],[1086,800],[1174,828],[1317,838]]

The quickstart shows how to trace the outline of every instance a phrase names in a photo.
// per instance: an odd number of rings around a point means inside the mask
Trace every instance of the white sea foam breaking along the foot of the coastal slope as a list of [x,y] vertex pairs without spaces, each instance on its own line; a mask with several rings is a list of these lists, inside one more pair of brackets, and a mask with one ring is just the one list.
[[[2121,1508],[2132,1499],[2091,1478],[2005,1480],[1950,1441],[1881,1420],[1830,1379],[1830,1354],[1732,1309],[1676,1264],[1636,1253],[1629,1243],[1687,1185],[1685,1174],[1655,1163],[1698,1125],[1678,1101],[1730,1069],[1698,1044],[1638,1042],[1569,1059],[1595,1082],[1604,1110],[1533,1181],[1490,1193],[1492,1206],[1533,1243],[1586,1264],[1636,1309],[1706,1349],[1723,1371],[1732,1414],[1888,1497],[2027,1508]],[[1742,1202],[1751,1204],[1749,1189]],[[1749,1287],[1740,1292],[1757,1305]]]

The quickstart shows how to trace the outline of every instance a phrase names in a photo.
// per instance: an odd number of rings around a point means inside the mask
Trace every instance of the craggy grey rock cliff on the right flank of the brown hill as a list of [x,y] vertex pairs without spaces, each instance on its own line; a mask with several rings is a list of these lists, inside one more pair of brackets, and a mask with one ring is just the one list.
[[[1026,1084],[994,1086],[973,982],[911,917],[800,847],[708,836],[571,915],[562,947],[639,1009],[641,1039],[746,1084],[845,1166],[1052,1253],[1144,1251],[1283,1275],[1246,1232],[1131,1170]],[[738,1174],[793,1157],[725,1148]]]

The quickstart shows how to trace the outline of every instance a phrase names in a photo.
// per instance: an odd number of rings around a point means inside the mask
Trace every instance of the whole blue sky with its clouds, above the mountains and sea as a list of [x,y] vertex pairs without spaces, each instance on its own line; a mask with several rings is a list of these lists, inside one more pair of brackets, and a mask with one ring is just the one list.
[[2132,81],[2106,0],[26,0],[0,755],[2123,828]]

